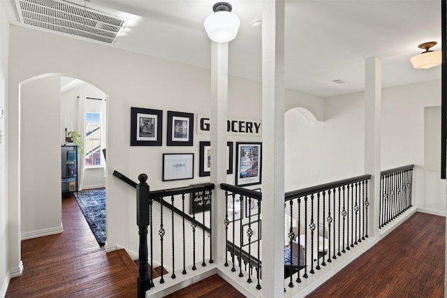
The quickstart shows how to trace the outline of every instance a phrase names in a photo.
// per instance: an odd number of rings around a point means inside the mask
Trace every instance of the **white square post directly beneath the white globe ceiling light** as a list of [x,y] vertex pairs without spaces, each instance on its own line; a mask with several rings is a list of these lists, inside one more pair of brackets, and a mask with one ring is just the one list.
[[[226,183],[226,120],[228,110],[228,43],[211,45],[211,182],[215,184],[212,195],[212,251],[213,259],[223,260],[225,239],[225,193],[220,184]],[[219,258],[219,260],[217,260]]]

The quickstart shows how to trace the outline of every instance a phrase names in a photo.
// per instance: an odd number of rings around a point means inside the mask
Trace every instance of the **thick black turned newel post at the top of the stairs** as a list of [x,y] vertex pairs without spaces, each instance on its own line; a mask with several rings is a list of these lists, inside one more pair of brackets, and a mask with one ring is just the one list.
[[140,248],[138,250],[139,276],[138,297],[145,297],[146,291],[150,288],[150,280],[147,275],[147,226],[149,225],[149,185],[147,184],[147,175],[138,176],[140,184],[137,185],[137,225],[140,235]]

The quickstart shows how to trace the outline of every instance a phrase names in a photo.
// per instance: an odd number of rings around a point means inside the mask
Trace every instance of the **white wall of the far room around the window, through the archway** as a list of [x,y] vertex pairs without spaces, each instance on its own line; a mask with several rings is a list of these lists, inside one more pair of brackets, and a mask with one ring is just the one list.
[[[84,82],[82,80],[74,80],[66,87],[61,89],[61,144],[64,144],[65,137],[65,117],[67,117],[68,131],[71,131],[71,125],[73,124],[73,130],[81,132],[82,129],[79,123],[79,109],[78,109],[78,96],[85,96],[89,98],[101,98],[105,99],[107,96],[103,91],[94,87],[92,84]],[[103,136],[103,148],[107,144],[107,135],[105,134],[107,128],[107,111],[105,104],[101,100],[86,100],[86,112],[101,112],[101,128]],[[102,167],[85,169],[84,179],[82,183],[82,189],[88,188],[100,188],[105,187],[105,172]]]

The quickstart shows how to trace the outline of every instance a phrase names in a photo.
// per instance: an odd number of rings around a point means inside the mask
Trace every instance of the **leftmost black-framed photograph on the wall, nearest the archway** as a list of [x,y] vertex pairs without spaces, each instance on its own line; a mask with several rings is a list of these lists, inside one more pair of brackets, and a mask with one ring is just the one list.
[[163,111],[131,107],[131,146],[161,146]]

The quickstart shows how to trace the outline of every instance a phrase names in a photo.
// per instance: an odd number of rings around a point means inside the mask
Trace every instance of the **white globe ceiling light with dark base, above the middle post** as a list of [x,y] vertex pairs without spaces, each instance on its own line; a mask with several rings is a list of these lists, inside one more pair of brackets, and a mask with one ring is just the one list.
[[240,27],[237,15],[231,12],[231,4],[218,2],[212,6],[214,13],[203,22],[208,37],[216,43],[228,43],[233,40]]

